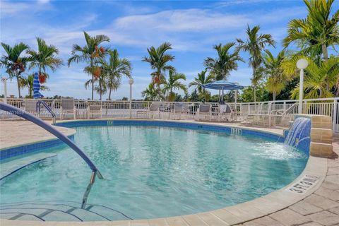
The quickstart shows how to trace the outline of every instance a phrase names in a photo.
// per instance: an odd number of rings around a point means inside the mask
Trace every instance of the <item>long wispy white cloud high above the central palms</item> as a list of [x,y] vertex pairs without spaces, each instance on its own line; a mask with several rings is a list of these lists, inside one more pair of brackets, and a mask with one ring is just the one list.
[[249,23],[243,15],[223,14],[200,8],[160,11],[158,13],[125,16],[114,21],[116,30],[138,30],[147,32],[153,29],[168,32],[201,32],[214,29],[232,29]]

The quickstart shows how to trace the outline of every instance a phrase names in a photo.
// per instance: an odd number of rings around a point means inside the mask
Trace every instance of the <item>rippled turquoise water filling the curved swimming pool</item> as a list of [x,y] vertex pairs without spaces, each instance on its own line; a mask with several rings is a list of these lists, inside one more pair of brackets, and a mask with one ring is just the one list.
[[[258,198],[292,182],[308,159],[284,143],[255,136],[155,126],[78,127],[75,142],[105,177],[95,182],[88,205],[133,219],[198,213]],[[1,181],[1,208],[25,201],[81,205],[88,165],[64,145],[47,151],[57,156]],[[110,220],[126,219],[110,214],[105,213]]]

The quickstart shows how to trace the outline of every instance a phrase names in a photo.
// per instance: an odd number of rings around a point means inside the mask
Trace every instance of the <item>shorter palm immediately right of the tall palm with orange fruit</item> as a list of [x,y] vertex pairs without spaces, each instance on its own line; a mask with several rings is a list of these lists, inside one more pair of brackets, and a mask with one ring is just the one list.
[[109,51],[109,61],[100,59],[102,73],[105,75],[107,88],[109,89],[108,100],[111,100],[112,90],[117,90],[121,84],[122,76],[131,78],[131,62],[126,58],[119,58],[117,49]]

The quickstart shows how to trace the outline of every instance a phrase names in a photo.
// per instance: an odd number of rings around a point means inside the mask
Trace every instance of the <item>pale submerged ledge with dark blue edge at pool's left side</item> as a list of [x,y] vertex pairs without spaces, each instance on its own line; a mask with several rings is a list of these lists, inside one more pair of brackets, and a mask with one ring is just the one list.
[[27,157],[21,157],[15,161],[1,162],[0,180],[4,179],[10,174],[13,174],[14,172],[17,172],[19,169],[23,169],[28,165],[32,165],[33,163],[40,162],[56,155],[57,154],[55,153],[37,153],[34,155],[28,155]]

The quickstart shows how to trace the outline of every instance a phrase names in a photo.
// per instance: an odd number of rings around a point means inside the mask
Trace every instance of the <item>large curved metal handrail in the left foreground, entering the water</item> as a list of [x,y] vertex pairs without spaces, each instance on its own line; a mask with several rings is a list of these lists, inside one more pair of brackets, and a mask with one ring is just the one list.
[[49,131],[49,133],[52,133],[54,136],[57,136],[57,138],[59,138],[64,143],[66,143],[66,145],[69,145],[69,147],[72,148],[78,155],[80,155],[80,157],[87,163],[90,169],[92,169],[92,175],[90,177],[90,184],[88,184],[85,194],[83,195],[83,202],[82,202],[81,208],[85,208],[88,194],[90,194],[90,189],[92,188],[95,182],[95,176],[97,176],[99,179],[104,179],[99,169],[97,169],[97,167],[90,160],[90,158],[87,155],[85,155],[85,153],[83,153],[83,151],[80,148],[78,148],[78,146],[75,143],[73,143],[73,141],[71,141],[67,136],[57,131],[57,129],[54,129],[51,125],[42,121],[42,119],[39,119],[35,117],[34,115],[29,114],[28,112],[25,112],[22,109],[19,109],[18,107],[13,107],[4,102],[0,102],[0,110],[3,110],[5,112],[10,112],[12,114],[16,114],[18,117],[27,119],[28,121],[32,121],[32,123],[37,124],[38,126],[42,127],[46,131]]

